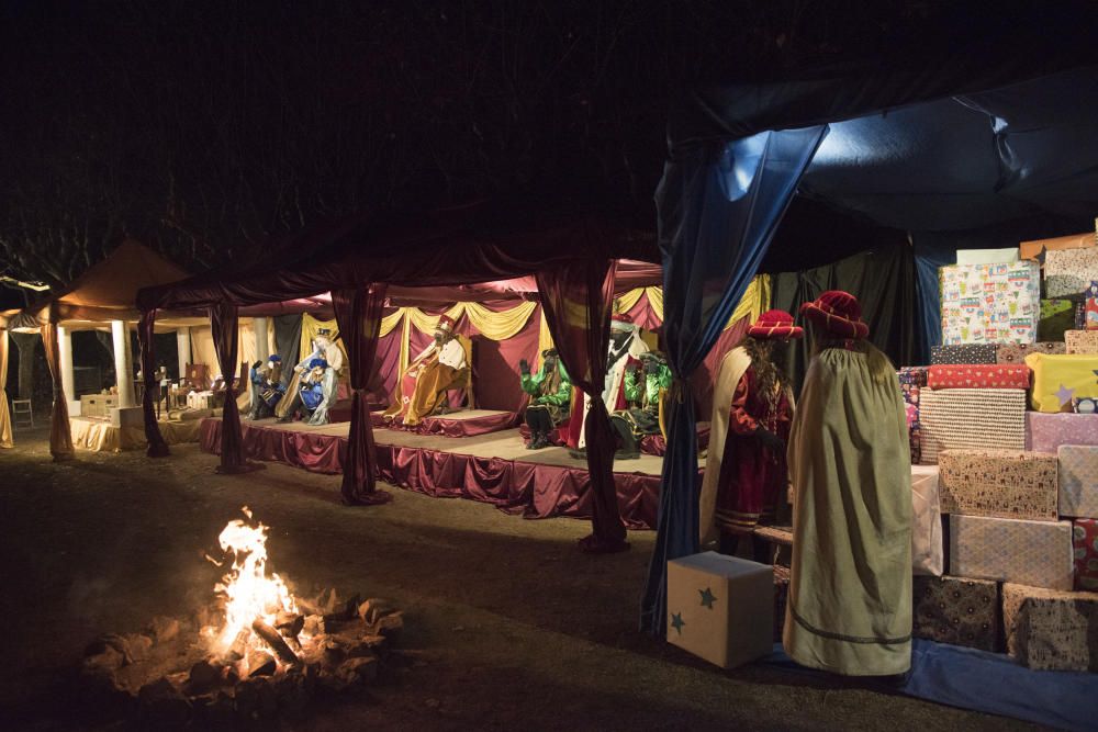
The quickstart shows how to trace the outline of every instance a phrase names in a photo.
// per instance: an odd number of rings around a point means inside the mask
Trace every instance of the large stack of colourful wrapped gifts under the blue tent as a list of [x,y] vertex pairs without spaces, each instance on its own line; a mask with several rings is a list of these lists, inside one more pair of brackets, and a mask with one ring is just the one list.
[[1098,671],[1095,236],[959,252],[940,279],[945,345],[899,373],[915,634]]

